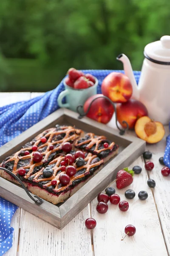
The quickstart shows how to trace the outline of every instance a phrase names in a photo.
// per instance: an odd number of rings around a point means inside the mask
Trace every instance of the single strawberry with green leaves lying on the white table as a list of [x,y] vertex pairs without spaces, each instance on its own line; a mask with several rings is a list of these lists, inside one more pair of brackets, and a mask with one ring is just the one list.
[[128,170],[128,168],[124,168],[120,170],[116,175],[116,186],[118,189],[123,189],[126,186],[129,186],[133,182],[133,170]]

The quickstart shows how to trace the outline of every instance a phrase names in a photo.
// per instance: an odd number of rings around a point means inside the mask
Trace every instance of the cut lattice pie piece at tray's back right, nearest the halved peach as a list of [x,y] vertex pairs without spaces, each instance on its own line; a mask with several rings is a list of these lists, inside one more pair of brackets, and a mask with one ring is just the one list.
[[119,149],[118,145],[107,140],[105,136],[97,136],[93,133],[87,133],[84,137],[77,139],[74,146],[75,148],[96,154],[103,159],[105,163],[114,157]]

